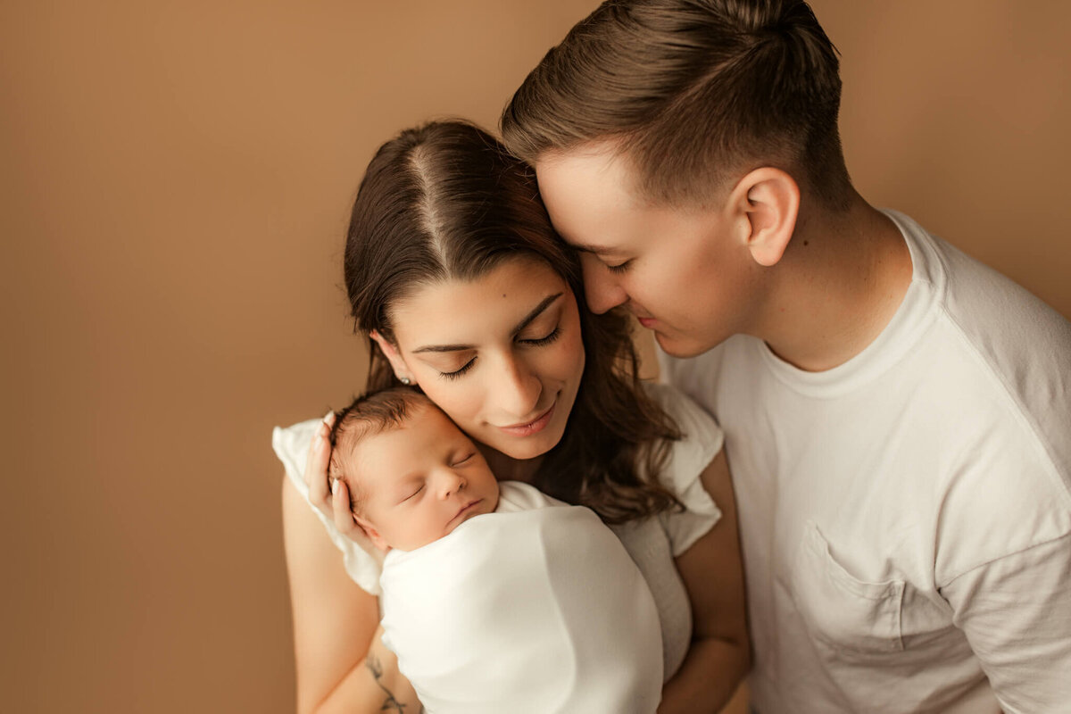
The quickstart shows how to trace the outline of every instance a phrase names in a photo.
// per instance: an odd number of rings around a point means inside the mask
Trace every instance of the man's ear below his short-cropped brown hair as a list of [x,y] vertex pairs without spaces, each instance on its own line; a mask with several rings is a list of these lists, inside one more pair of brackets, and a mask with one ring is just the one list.
[[772,166],[751,171],[737,183],[730,208],[746,231],[748,249],[760,265],[774,265],[796,230],[800,189],[793,177]]

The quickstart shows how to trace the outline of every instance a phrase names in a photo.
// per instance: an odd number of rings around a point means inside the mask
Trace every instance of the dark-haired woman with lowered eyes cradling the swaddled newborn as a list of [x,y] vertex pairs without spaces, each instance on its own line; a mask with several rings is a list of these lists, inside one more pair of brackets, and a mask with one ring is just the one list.
[[[639,383],[624,315],[577,305],[579,263],[531,172],[466,123],[404,132],[368,166],[345,262],[368,389],[418,385],[497,477],[610,525],[658,605],[659,712],[716,711],[750,657],[720,432],[681,396]],[[326,434],[304,423],[275,435],[299,711],[419,711],[379,640],[377,563],[345,486],[329,492]]]

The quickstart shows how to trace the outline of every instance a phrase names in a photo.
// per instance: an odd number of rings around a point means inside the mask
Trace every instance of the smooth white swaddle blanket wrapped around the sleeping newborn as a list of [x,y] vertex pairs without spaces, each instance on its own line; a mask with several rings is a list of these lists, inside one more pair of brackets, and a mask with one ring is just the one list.
[[588,508],[500,487],[495,513],[383,564],[383,642],[426,711],[653,712],[659,616],[620,541]]

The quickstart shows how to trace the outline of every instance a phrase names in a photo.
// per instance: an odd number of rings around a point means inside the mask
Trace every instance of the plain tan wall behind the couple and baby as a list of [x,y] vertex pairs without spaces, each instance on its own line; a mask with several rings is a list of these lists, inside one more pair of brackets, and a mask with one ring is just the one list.
[[[4,3],[0,709],[292,709],[269,431],[360,389],[360,171],[593,5]],[[863,194],[1071,315],[1071,5],[815,5]]]

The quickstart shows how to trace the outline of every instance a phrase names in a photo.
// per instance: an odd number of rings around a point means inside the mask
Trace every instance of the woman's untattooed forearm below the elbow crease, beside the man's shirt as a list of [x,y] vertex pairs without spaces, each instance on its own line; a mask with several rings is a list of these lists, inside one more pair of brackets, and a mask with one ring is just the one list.
[[750,667],[746,643],[712,638],[692,642],[684,663],[662,688],[658,714],[721,711]]

